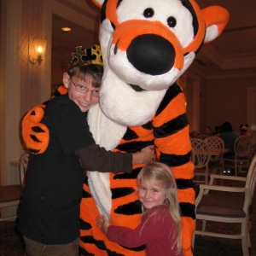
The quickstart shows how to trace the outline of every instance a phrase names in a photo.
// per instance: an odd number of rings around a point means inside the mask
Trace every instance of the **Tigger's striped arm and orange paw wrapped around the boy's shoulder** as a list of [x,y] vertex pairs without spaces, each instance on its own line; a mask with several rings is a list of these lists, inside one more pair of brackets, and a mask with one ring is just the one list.
[[[61,96],[67,93],[67,89],[64,86],[60,86],[55,90],[54,96]],[[49,101],[48,101],[49,102]],[[44,108],[47,102],[32,108],[26,113],[21,123],[21,134],[26,148],[32,154],[42,154],[46,150],[49,144],[49,130],[40,123],[44,117]]]

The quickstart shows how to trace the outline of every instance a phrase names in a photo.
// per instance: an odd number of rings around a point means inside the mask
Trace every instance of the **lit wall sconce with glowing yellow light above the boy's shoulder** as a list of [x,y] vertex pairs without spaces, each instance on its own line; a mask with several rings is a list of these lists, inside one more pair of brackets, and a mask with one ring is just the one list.
[[32,45],[29,45],[29,61],[32,64],[38,65],[43,61],[44,51],[46,48],[46,38],[42,36],[38,36],[32,40]]

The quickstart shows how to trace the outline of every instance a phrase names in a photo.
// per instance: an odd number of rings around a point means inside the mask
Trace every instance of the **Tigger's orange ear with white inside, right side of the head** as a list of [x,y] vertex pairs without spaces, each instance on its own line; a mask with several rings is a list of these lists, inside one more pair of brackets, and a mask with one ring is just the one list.
[[230,19],[230,14],[226,9],[218,5],[207,7],[201,11],[207,26],[206,37],[204,40],[204,43],[206,44],[215,38],[218,38],[224,31],[224,28]]

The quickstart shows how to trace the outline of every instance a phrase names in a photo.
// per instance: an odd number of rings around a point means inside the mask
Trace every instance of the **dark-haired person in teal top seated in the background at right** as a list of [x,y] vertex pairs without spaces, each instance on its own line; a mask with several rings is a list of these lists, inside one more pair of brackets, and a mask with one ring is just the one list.
[[233,156],[235,155],[234,144],[238,134],[236,131],[233,131],[232,125],[230,122],[224,122],[222,125],[222,132],[219,136],[224,141],[224,147],[229,149],[229,152],[224,153],[224,156]]

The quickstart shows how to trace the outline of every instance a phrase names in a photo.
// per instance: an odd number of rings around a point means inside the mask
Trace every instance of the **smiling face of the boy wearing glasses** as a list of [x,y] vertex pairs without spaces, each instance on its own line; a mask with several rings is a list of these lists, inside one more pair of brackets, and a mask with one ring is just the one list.
[[[100,101],[99,97],[92,95],[92,90],[100,90],[100,88],[95,88],[92,86],[91,83],[84,82],[76,76],[73,76],[73,78],[70,79],[69,75],[67,73],[64,73],[63,84],[68,90],[67,93],[69,98],[79,106],[82,112],[86,112],[89,108],[93,107],[94,105],[96,105],[96,103]],[[84,93],[81,93],[78,90],[76,90],[76,86],[74,84],[79,84],[81,86],[86,87],[89,90],[87,90]]]

